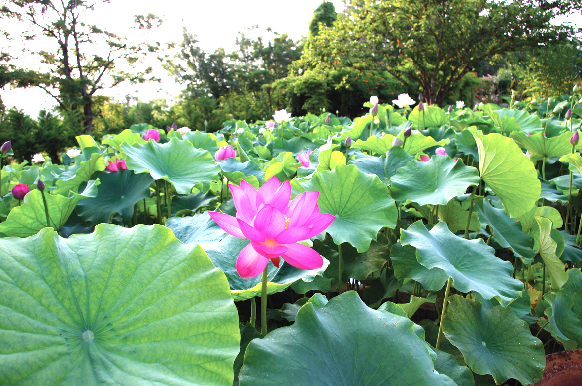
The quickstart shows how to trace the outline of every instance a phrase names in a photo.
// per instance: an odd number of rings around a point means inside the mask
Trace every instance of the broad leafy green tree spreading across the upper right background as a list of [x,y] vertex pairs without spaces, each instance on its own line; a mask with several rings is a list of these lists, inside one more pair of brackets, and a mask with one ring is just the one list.
[[519,0],[358,0],[332,27],[310,36],[295,69],[385,70],[442,105],[482,60],[566,41],[553,26],[561,2]]

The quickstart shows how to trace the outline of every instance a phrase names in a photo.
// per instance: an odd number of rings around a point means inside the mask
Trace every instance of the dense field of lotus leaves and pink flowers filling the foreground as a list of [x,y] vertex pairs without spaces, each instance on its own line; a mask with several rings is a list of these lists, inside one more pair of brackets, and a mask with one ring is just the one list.
[[3,146],[0,384],[534,384],[582,345],[580,96]]

